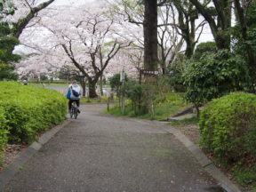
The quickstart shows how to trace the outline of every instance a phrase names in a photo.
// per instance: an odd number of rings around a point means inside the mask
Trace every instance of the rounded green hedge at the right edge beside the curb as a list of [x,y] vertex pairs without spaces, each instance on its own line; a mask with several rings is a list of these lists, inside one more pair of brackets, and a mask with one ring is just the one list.
[[200,115],[201,145],[223,163],[256,157],[256,96],[236,92],[212,100]]

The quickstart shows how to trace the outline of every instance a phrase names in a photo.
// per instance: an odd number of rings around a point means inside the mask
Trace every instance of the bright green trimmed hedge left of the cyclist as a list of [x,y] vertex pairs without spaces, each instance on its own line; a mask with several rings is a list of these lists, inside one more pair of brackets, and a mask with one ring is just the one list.
[[0,82],[0,149],[7,139],[30,143],[67,113],[67,100],[59,92]]

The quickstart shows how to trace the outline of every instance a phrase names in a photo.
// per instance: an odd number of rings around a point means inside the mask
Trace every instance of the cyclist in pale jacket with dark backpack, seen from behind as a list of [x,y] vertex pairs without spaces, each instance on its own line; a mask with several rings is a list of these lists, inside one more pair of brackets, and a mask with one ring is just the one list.
[[80,113],[79,106],[82,89],[78,84],[76,84],[76,80],[69,85],[68,92],[70,92],[70,98],[68,100],[68,113],[70,113],[72,102],[76,102],[77,112]]

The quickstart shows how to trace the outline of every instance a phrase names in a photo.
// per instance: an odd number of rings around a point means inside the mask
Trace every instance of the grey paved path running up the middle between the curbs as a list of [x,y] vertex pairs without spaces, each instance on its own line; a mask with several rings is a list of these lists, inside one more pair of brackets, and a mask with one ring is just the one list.
[[4,191],[225,191],[193,156],[196,149],[176,139],[182,138],[179,132],[101,114],[105,107],[83,106],[83,113],[30,158]]

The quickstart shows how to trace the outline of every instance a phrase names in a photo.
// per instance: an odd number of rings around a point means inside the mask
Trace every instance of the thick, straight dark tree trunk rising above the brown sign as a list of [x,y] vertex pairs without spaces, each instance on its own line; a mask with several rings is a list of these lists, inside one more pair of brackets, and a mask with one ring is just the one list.
[[157,69],[157,0],[145,0],[143,22],[144,68]]

